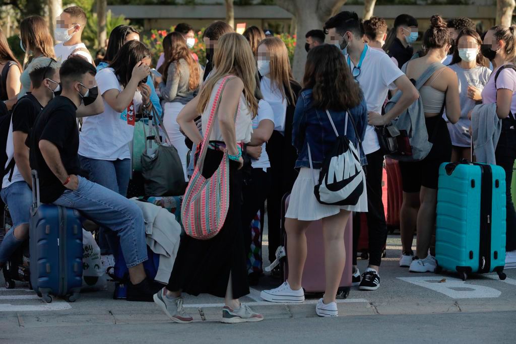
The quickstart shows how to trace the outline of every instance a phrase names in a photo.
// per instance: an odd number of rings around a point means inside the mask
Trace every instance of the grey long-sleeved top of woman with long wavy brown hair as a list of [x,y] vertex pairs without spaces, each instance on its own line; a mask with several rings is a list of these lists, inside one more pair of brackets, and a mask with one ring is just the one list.
[[[199,67],[199,85],[202,83],[204,71],[201,65]],[[160,83],[159,91],[165,102],[178,102],[186,104],[193,99],[199,91],[199,87],[195,90],[190,90],[188,81],[190,80],[190,69],[185,59],[170,63],[167,72],[167,84]]]

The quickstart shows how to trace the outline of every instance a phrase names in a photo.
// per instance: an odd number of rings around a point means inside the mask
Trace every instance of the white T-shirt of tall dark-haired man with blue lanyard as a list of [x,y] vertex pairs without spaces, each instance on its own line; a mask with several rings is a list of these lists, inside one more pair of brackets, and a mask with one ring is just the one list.
[[[347,62],[348,56],[346,55],[345,57]],[[351,59],[350,63],[350,69],[353,70],[354,64]],[[367,111],[382,113],[382,106],[389,89],[393,90],[396,88],[394,81],[402,75],[404,75],[403,72],[384,51],[367,49],[367,53],[362,61],[360,75],[357,77],[360,88],[364,92]],[[362,146],[365,154],[370,154],[380,149],[374,126],[367,126]]]

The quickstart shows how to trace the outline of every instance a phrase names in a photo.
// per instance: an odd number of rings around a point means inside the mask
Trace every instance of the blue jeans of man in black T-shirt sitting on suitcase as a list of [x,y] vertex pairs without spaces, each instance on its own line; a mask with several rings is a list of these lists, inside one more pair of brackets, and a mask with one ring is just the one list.
[[127,268],[146,261],[147,243],[141,209],[116,192],[86,178],[78,178],[77,190],[67,189],[54,204],[77,209],[85,218],[116,232]]

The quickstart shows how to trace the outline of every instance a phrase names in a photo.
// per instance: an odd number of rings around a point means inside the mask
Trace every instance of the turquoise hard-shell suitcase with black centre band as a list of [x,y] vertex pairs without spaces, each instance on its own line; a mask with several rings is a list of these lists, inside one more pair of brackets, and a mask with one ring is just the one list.
[[443,163],[437,194],[436,259],[442,269],[497,272],[505,264],[505,171],[484,163]]

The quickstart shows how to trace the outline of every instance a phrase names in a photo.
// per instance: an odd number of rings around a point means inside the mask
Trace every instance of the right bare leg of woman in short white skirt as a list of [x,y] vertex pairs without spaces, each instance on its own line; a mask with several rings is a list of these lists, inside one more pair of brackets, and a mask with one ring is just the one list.
[[325,304],[335,302],[338,286],[341,284],[342,272],[346,265],[344,231],[350,214],[348,210],[341,210],[334,216],[322,219],[326,273],[326,289],[322,301]]

